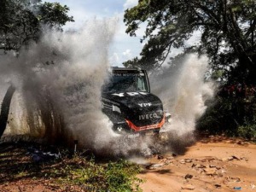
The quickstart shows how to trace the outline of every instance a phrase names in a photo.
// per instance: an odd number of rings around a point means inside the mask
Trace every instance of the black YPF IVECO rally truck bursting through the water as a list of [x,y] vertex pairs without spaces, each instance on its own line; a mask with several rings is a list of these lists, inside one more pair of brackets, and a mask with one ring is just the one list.
[[171,118],[160,98],[150,93],[147,72],[138,68],[112,68],[102,88],[102,112],[120,133],[158,133]]

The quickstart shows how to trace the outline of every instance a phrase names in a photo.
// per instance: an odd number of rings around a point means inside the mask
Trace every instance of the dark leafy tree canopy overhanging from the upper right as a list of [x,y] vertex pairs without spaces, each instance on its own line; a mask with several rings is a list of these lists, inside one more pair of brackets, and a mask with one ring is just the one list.
[[[125,10],[124,22],[131,36],[146,24],[141,57],[126,67],[159,67],[172,48],[183,48],[207,54],[212,69],[228,77],[256,77],[255,0],[140,0]],[[201,40],[188,47],[194,32],[201,32]]]

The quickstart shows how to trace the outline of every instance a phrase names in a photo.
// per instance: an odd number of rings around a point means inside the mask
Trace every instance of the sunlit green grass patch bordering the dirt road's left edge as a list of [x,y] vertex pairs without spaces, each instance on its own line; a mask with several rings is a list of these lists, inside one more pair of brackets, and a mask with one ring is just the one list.
[[94,160],[88,161],[76,156],[64,162],[65,166],[62,166],[60,170],[55,169],[51,175],[57,177],[59,183],[79,185],[84,189],[99,192],[141,191],[139,184],[143,181],[137,178],[141,169],[127,160],[96,164]]

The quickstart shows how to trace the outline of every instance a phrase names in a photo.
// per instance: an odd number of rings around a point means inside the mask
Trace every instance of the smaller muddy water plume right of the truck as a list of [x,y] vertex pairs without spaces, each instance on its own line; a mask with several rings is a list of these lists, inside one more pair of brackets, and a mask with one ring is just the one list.
[[207,69],[207,56],[199,58],[191,54],[151,76],[152,92],[160,96],[164,108],[172,113],[172,123],[164,129],[170,148],[193,140],[196,120],[205,112],[205,102],[214,94],[214,84],[205,80]]

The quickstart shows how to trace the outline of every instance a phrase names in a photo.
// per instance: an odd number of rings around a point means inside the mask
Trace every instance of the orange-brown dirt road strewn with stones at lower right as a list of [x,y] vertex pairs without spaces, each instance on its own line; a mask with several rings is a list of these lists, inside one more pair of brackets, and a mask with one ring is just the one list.
[[256,191],[256,145],[209,137],[183,155],[155,155],[139,176],[144,192]]

